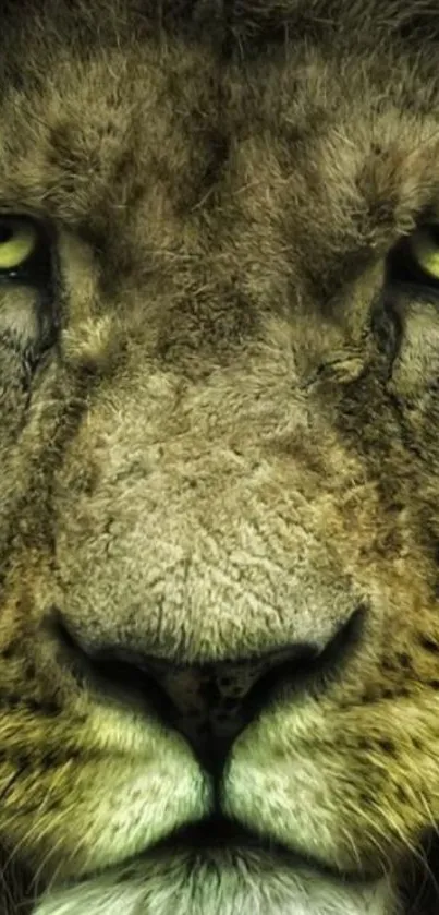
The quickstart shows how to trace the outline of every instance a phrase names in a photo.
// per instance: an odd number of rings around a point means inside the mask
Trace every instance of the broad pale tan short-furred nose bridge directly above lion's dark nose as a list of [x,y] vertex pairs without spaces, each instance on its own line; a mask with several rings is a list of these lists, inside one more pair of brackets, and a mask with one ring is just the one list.
[[[326,448],[320,473],[316,425],[281,357],[199,385],[153,372],[135,387],[130,374],[117,398],[97,394],[54,487],[57,601],[85,641],[210,664],[284,639],[324,646],[350,615],[356,595],[326,527],[340,514],[328,478],[352,463],[337,453],[332,467]],[[236,671],[193,667],[193,706],[203,712],[202,674],[216,707],[231,702]],[[187,672],[164,676],[179,707]],[[244,697],[246,664],[239,679]]]

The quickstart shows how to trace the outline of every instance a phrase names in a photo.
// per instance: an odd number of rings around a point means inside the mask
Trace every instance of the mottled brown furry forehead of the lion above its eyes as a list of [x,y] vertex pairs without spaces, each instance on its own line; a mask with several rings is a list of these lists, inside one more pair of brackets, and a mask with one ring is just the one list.
[[[434,37],[439,12],[424,0],[24,0],[20,16],[0,0],[0,197],[85,230],[107,276],[135,267],[150,279],[158,264],[168,276],[178,257],[181,290],[210,232],[210,280],[229,288],[234,264],[237,289],[252,264],[243,298],[270,292],[260,251],[279,277],[273,301],[293,262],[295,285],[308,262],[337,288],[354,255],[385,250],[437,198],[435,55],[407,65],[395,43],[385,49],[382,38],[376,53],[370,37],[399,28],[404,44],[408,23]],[[182,52],[175,36],[155,40],[171,28],[203,41],[186,35]],[[301,43],[309,28],[328,50]],[[280,63],[261,55],[252,69],[258,33],[288,38]],[[353,48],[353,35],[373,49]],[[230,67],[205,47],[217,38]]]

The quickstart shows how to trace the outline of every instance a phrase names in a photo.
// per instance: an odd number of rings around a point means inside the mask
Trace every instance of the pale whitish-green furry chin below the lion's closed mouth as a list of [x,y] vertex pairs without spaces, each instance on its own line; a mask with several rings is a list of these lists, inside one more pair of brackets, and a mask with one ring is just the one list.
[[49,892],[33,915],[398,915],[390,881],[354,882],[252,846],[154,851]]

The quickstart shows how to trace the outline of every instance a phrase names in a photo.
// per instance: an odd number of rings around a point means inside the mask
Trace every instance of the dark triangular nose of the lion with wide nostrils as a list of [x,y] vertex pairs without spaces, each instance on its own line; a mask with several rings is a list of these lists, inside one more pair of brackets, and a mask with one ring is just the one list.
[[120,646],[85,645],[65,621],[57,622],[58,638],[69,649],[72,672],[102,693],[114,690],[122,702],[145,702],[153,713],[183,734],[203,764],[221,771],[239,734],[282,690],[293,700],[312,686],[324,688],[345,650],[358,637],[364,609],[358,607],[327,646],[294,643],[276,650],[203,664],[136,653]]

